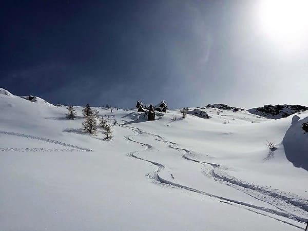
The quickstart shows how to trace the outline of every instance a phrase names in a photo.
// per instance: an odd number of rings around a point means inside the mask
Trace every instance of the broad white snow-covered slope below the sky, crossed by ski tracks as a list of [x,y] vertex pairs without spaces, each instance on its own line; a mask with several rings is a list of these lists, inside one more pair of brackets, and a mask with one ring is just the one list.
[[291,117],[206,108],[210,119],[174,121],[171,110],[148,122],[136,109],[94,108],[117,122],[109,142],[84,133],[75,109],[67,120],[65,106],[0,94],[1,230],[305,227],[308,174],[283,147],[296,140],[287,130],[300,135]]

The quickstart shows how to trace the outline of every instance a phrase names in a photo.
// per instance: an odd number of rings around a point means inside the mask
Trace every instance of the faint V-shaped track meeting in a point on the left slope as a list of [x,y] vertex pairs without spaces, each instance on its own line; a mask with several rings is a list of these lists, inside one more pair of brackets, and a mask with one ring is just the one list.
[[30,136],[28,134],[23,134],[23,133],[0,131],[0,134],[6,134],[6,135],[9,135],[9,136],[24,137],[24,138],[29,138],[29,139],[33,139],[33,140],[45,141],[47,143],[58,144],[58,145],[65,146],[65,147],[75,148],[74,150],[73,149],[61,149],[61,148],[0,148],[1,151],[93,151],[93,150],[88,149],[88,148],[83,148],[83,147],[79,147],[79,146],[72,145],[72,144],[66,144],[66,143],[63,143],[61,141],[51,140],[51,139],[47,139],[47,138],[43,138],[43,137]]

